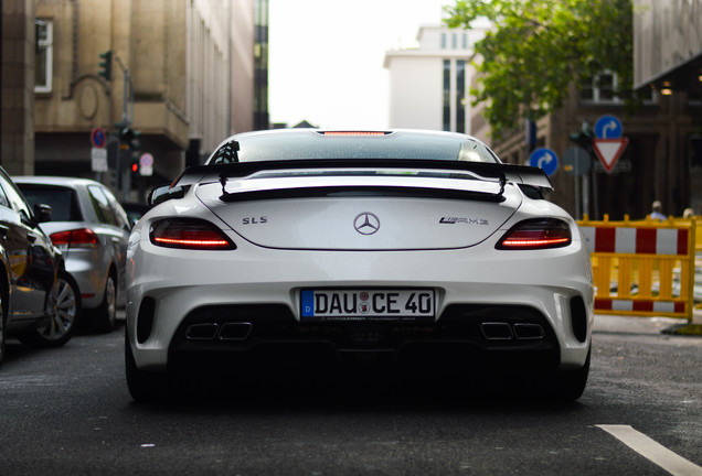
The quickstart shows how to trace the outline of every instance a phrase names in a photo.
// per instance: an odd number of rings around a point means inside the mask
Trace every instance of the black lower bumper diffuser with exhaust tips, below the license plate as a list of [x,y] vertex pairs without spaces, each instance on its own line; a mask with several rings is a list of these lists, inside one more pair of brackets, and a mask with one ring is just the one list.
[[299,323],[280,305],[204,306],[178,327],[168,349],[176,371],[372,364],[432,371],[556,369],[547,320],[517,306],[453,306],[435,323]]

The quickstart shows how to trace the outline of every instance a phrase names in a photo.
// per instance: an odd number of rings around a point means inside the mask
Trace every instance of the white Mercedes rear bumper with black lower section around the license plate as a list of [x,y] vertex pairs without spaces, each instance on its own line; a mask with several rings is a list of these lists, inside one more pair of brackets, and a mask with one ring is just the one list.
[[[138,368],[369,359],[565,370],[587,358],[593,289],[579,244],[525,253],[317,252],[240,244],[223,253],[135,244],[126,310]],[[437,317],[429,324],[300,322],[300,290],[329,286],[432,288]]]

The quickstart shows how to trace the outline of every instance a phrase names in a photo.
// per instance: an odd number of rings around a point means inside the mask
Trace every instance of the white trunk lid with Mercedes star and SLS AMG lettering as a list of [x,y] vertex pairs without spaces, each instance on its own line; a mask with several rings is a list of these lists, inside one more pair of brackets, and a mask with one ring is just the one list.
[[[351,186],[358,190],[361,181],[359,177],[354,178],[357,180],[350,182],[350,185],[336,186],[329,183],[329,177],[325,177],[325,185],[330,188]],[[383,181],[384,184],[387,182]],[[432,183],[432,186],[451,181],[435,178],[434,182],[439,183]],[[277,184],[267,181],[264,186]],[[414,186],[426,185],[421,183]],[[456,199],[393,197],[392,193],[387,193],[386,197],[358,195],[353,199],[349,199],[349,195],[342,195],[338,198],[301,197],[222,203],[217,187],[219,184],[198,186],[195,195],[243,238],[264,247],[288,249],[469,247],[499,229],[521,203],[521,194],[513,191],[506,194],[507,199],[503,203],[475,201],[470,206]],[[510,185],[510,188],[513,187]],[[349,232],[354,226],[364,225],[366,216],[361,214],[370,214],[377,223],[365,224],[370,226],[365,234]],[[361,223],[357,224],[357,220]],[[413,232],[407,232],[408,228]]]

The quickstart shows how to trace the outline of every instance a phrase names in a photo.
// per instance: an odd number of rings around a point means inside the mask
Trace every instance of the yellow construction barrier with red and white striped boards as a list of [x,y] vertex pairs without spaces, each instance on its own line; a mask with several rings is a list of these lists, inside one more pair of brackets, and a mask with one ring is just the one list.
[[692,321],[696,220],[578,221],[593,263],[595,313]]

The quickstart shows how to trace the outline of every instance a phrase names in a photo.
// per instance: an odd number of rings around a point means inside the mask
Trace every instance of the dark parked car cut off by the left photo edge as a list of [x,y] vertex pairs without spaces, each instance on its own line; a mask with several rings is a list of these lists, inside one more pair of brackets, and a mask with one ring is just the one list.
[[0,363],[9,334],[25,345],[57,347],[78,325],[78,286],[39,226],[50,218],[50,207],[32,209],[0,167]]

